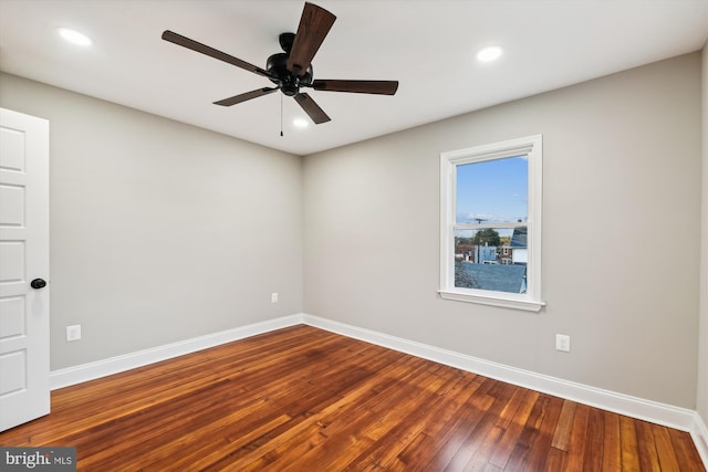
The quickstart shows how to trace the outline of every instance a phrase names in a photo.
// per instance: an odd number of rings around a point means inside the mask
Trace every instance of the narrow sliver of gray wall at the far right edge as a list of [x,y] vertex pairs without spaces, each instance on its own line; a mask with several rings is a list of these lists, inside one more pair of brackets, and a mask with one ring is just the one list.
[[701,232],[701,277],[700,277],[700,324],[698,349],[698,413],[708,424],[708,43],[702,51],[702,136],[704,136],[704,201],[702,201],[702,232]]

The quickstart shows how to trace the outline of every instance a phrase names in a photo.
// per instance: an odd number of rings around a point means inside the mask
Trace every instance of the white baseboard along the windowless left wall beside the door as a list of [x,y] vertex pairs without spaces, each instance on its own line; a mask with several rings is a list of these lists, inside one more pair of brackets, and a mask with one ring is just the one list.
[[179,340],[177,343],[170,343],[164,346],[153,347],[150,349],[138,350],[136,353],[96,360],[94,363],[53,370],[50,373],[50,389],[55,390],[58,388],[94,380],[101,377],[118,374],[137,367],[147,366],[149,364],[159,363],[162,360],[171,359],[174,357],[184,356],[185,354],[195,353],[197,350],[207,349],[209,347],[215,347],[233,340],[243,339],[246,337],[256,336],[257,334],[268,333],[302,323],[302,315],[283,316],[275,319],[240,326],[233,329]]

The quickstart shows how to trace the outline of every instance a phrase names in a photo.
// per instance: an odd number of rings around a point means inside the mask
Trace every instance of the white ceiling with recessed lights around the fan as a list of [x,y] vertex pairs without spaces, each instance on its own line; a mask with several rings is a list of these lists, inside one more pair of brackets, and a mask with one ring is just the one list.
[[[259,75],[160,39],[173,30],[258,66],[302,0],[0,0],[0,70],[296,155],[342,146],[700,50],[708,0],[314,0],[337,17],[315,78],[397,80],[395,96],[306,90],[332,122]],[[58,38],[90,35],[81,49]],[[477,50],[506,50],[478,63]],[[280,136],[281,97],[283,130]]]

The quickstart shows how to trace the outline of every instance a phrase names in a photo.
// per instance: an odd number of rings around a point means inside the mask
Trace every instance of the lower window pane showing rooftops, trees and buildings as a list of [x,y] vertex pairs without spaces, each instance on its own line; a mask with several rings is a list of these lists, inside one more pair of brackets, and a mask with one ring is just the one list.
[[455,286],[527,292],[527,227],[455,230]]

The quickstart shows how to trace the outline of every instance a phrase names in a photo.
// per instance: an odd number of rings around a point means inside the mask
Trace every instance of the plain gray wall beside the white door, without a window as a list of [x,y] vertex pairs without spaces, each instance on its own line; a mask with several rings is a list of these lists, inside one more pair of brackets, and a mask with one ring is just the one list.
[[300,157],[0,80],[50,120],[52,370],[302,311]]

